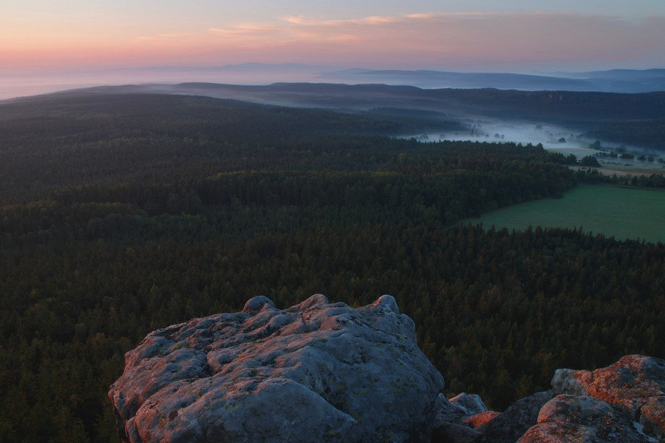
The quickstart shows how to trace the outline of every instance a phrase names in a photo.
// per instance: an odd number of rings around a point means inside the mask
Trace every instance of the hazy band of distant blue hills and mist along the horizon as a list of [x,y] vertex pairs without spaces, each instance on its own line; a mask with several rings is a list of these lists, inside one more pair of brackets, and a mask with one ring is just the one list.
[[433,69],[364,69],[310,64],[245,63],[223,66],[154,66],[94,71],[3,73],[0,100],[100,85],[213,82],[262,85],[275,82],[408,85],[424,89],[517,89],[522,91],[665,91],[665,69],[592,72],[492,73]]

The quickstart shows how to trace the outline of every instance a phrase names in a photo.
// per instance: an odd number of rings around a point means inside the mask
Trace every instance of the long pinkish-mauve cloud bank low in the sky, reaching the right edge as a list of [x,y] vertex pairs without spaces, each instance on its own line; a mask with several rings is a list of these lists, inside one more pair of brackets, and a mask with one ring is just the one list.
[[247,60],[373,61],[382,66],[422,67],[621,62],[640,57],[662,65],[662,35],[665,21],[660,18],[628,21],[593,15],[468,13],[320,21],[294,16],[273,24],[212,29],[200,38],[212,53],[215,48],[228,51],[228,46],[251,49]]

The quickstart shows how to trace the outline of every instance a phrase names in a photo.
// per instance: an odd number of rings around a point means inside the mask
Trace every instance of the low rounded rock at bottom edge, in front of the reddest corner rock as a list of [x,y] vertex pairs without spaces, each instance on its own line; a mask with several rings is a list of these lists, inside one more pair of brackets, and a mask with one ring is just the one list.
[[623,413],[603,400],[585,395],[558,395],[544,404],[538,425],[529,428],[520,443],[626,442],[646,443]]

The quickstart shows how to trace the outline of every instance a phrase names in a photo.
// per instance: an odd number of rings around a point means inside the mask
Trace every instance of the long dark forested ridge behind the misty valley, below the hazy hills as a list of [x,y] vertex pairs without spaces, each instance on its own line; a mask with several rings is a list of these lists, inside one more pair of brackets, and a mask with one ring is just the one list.
[[326,109],[400,108],[435,111],[443,119],[499,118],[570,127],[588,138],[664,149],[665,92],[603,93],[499,89],[420,89],[385,84],[213,83],[128,85],[89,93],[175,93]]

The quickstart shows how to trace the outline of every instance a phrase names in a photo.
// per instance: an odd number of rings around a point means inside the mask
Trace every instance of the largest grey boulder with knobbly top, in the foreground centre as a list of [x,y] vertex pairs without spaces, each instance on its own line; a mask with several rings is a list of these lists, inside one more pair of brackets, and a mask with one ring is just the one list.
[[442,389],[394,298],[317,294],[154,331],[109,398],[130,442],[425,442]]

